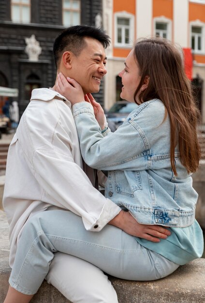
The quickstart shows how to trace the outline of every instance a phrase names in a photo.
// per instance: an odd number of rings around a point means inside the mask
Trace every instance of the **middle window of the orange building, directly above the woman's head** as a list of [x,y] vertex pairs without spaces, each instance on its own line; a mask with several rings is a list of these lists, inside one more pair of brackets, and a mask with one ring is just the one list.
[[171,40],[172,21],[164,16],[154,18],[154,35]]

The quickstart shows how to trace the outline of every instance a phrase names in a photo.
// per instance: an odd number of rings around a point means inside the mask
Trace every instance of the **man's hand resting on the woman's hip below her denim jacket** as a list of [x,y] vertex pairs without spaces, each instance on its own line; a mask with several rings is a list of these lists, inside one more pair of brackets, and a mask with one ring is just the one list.
[[108,224],[114,225],[132,236],[152,242],[160,242],[159,238],[166,239],[167,236],[171,235],[166,227],[139,224],[130,212],[119,212]]

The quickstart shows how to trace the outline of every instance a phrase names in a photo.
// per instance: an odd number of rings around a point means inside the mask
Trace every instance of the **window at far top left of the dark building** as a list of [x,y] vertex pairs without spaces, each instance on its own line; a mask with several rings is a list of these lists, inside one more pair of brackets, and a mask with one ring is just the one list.
[[16,23],[30,22],[30,0],[11,0],[12,21]]

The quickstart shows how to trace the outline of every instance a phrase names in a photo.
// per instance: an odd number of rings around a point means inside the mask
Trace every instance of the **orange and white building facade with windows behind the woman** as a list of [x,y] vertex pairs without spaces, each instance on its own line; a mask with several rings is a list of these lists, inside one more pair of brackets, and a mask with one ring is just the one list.
[[103,27],[112,39],[107,50],[106,109],[119,100],[117,75],[134,41],[159,35],[183,48],[185,70],[198,92],[205,124],[205,0],[103,0]]

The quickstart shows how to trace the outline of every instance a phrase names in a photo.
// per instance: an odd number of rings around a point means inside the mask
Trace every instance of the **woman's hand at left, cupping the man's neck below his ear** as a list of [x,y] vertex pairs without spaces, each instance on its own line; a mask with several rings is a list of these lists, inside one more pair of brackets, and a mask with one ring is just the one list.
[[62,73],[59,73],[58,75],[56,91],[66,97],[72,105],[85,101],[84,93],[80,84],[72,78],[66,78]]

